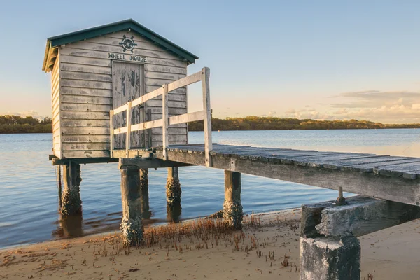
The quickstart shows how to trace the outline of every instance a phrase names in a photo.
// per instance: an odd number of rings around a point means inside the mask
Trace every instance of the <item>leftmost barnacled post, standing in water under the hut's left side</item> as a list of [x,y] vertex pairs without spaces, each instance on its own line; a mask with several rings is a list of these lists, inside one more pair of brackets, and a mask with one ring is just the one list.
[[63,167],[64,191],[62,193],[62,217],[82,213],[82,200],[80,200],[80,165],[69,162]]

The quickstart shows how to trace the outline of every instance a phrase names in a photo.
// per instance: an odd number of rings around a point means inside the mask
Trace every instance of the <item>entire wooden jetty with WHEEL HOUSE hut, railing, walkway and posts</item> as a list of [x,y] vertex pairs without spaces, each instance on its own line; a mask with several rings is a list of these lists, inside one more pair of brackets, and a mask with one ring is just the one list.
[[[48,38],[50,160],[63,167],[63,217],[82,210],[80,165],[99,162],[119,162],[127,245],[143,237],[150,168],[168,169],[171,209],[181,204],[179,167],[223,169],[223,219],[237,229],[241,173],[330,188],[337,201],[302,206],[300,276],[360,279],[357,237],[420,217],[420,158],[214,144],[210,70],[187,75],[197,58],[134,20]],[[203,109],[188,113],[193,83],[202,85]],[[204,121],[203,144],[188,144],[196,120]],[[360,196],[345,200],[343,190]]]

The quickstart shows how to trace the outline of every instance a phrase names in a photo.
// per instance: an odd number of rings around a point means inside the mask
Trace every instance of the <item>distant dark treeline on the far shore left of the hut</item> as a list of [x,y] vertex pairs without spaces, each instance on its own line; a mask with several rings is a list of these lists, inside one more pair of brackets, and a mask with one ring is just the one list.
[[0,134],[4,133],[51,133],[52,120],[38,120],[33,117],[0,116]]

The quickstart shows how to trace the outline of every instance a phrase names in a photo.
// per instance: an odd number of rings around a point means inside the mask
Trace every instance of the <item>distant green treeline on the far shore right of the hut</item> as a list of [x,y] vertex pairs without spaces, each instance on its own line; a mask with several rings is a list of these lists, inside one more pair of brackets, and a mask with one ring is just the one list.
[[[188,124],[190,131],[202,131],[203,121]],[[419,128],[419,123],[386,125],[367,120],[299,120],[297,118],[274,118],[248,116],[245,118],[212,118],[213,130],[353,130],[363,128]]]

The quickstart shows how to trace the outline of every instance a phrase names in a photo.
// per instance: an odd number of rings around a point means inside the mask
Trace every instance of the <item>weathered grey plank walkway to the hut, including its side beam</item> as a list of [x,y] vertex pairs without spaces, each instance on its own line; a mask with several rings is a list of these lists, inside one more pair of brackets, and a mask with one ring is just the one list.
[[[120,165],[206,166],[204,144],[114,150]],[[420,158],[213,144],[212,167],[420,205]],[[154,162],[154,163],[153,163]],[[281,190],[279,190],[281,191]]]

